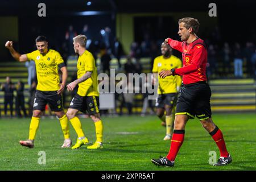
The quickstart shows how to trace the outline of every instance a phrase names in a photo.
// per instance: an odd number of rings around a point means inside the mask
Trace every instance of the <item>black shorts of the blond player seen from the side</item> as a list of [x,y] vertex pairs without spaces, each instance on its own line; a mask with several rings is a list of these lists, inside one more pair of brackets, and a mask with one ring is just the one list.
[[98,106],[100,105],[99,97],[97,96],[79,96],[76,94],[75,97],[72,98],[71,103],[69,104],[69,108],[77,109],[82,113],[86,114],[86,111],[89,115],[94,115],[100,113]]

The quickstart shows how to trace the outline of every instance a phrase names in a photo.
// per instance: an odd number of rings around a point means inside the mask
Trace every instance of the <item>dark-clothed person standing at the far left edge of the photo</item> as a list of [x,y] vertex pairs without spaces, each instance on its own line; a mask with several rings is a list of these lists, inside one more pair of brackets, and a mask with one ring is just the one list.
[[11,117],[13,117],[13,98],[15,86],[13,82],[11,82],[11,78],[9,76],[6,77],[5,84],[2,85],[2,91],[5,92],[5,116],[7,116],[7,105],[10,106]]

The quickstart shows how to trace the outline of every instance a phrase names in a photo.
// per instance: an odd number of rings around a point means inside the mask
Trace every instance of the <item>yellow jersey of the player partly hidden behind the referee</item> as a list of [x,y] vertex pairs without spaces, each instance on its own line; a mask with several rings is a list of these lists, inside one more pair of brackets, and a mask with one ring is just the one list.
[[[169,58],[164,58],[164,56],[158,56],[154,60],[154,65],[152,72],[159,73],[163,70],[171,70],[172,68],[181,68],[182,63],[176,56],[171,56]],[[165,78],[160,78],[158,76],[158,94],[176,93],[177,86],[181,85],[180,76],[167,76]]]

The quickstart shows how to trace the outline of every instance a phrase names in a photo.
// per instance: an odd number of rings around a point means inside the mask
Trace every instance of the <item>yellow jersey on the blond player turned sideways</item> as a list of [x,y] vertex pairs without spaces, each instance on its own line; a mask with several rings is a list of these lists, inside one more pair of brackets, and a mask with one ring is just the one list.
[[81,78],[86,72],[92,72],[92,76],[79,84],[77,94],[79,96],[99,96],[98,73],[92,53],[85,50],[77,61],[77,78]]

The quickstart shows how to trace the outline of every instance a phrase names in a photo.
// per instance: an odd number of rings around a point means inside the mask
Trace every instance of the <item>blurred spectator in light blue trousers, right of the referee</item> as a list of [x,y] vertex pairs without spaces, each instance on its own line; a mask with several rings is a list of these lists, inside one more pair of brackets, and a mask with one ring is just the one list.
[[242,78],[243,76],[243,55],[239,43],[234,47],[234,76]]

